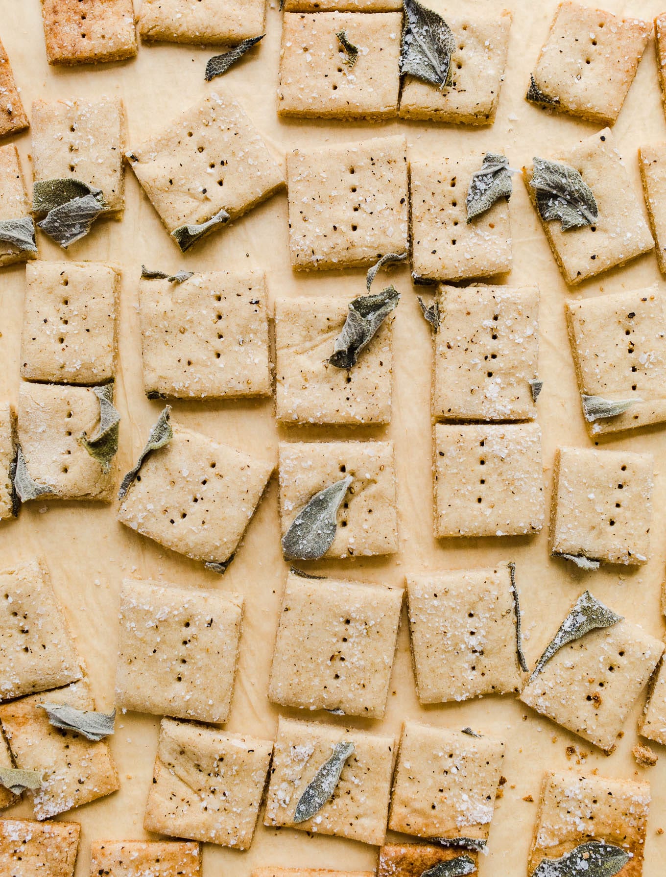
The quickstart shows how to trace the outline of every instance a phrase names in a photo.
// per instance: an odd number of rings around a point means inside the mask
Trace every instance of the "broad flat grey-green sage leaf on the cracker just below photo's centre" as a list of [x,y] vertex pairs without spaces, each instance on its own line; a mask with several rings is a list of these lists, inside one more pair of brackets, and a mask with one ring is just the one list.
[[283,554],[288,560],[319,560],[326,554],[333,545],[338,529],[340,504],[352,481],[352,476],[347,475],[330,487],[319,490],[298,512],[283,536]]

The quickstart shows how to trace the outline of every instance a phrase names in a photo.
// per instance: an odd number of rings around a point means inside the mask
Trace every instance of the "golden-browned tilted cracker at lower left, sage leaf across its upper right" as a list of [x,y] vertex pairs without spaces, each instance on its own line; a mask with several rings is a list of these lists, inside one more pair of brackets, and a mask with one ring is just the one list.
[[26,793],[34,815],[42,820],[111,795],[120,782],[104,740],[94,743],[75,731],[54,728],[40,703],[94,710],[95,702],[88,682],[80,681],[0,706],[0,724],[16,765],[42,774],[41,786]]

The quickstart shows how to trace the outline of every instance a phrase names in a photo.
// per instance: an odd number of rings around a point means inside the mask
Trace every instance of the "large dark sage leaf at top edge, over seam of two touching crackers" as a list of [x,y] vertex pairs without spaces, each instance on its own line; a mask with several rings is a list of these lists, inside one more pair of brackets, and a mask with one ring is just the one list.
[[446,21],[417,0],[403,0],[405,24],[400,49],[400,75],[416,76],[440,89],[453,81],[451,56],[455,36]]

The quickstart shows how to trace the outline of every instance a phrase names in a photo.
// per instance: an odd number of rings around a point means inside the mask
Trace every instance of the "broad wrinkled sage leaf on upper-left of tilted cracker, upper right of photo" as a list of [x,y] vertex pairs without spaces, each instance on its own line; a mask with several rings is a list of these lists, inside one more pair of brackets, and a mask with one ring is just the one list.
[[576,168],[562,161],[534,158],[530,186],[536,192],[536,206],[544,222],[562,221],[562,232],[592,225],[598,218],[594,193]]

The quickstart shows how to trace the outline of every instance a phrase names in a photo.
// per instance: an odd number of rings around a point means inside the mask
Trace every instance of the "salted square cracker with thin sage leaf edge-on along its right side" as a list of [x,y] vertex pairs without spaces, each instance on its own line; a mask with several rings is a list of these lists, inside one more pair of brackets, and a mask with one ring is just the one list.
[[519,691],[508,566],[408,575],[407,600],[419,702]]

